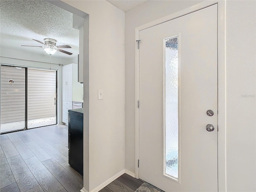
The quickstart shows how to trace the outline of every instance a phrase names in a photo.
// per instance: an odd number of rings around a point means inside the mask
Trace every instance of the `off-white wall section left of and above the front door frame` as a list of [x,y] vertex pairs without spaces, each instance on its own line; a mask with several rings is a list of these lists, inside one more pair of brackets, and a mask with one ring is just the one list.
[[202,1],[150,0],[125,12],[125,166],[135,173],[135,28]]

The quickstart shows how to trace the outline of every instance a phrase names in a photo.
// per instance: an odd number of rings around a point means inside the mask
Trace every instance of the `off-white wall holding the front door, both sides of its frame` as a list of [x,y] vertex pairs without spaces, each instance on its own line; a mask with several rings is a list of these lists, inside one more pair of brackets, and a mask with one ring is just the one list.
[[[148,1],[125,13],[126,169],[135,172],[135,28],[198,1]],[[256,1],[226,3],[226,172],[220,191],[256,191]],[[150,14],[149,14],[150,13]],[[223,67],[222,67],[223,68]],[[222,72],[224,73],[224,72]],[[223,108],[225,108],[223,107]],[[225,118],[225,117],[221,117]],[[222,127],[225,129],[225,127]],[[223,133],[223,130],[222,130]],[[225,159],[225,157],[222,157]],[[225,167],[225,166],[223,166]],[[221,166],[221,168],[223,168]]]

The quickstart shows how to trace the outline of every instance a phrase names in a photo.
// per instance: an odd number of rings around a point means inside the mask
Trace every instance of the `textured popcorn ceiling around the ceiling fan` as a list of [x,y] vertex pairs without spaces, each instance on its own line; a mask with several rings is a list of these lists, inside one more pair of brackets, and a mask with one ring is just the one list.
[[43,48],[20,45],[41,46],[32,39],[44,42],[53,38],[56,45],[70,45],[72,48],[63,50],[73,53],[56,52],[53,56],[77,57],[79,31],[72,28],[72,20],[72,13],[44,0],[0,0],[0,46],[45,54]]

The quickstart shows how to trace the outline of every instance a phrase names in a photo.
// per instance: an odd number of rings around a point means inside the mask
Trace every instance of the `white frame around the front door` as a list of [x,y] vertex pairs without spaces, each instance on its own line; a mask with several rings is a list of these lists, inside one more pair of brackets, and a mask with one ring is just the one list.
[[[218,191],[226,192],[226,0],[211,0],[196,4],[174,14],[135,28],[135,41],[139,40],[140,30],[150,28],[188,13],[218,4]],[[135,42],[134,41],[134,42]],[[135,53],[135,177],[139,177],[139,51]]]

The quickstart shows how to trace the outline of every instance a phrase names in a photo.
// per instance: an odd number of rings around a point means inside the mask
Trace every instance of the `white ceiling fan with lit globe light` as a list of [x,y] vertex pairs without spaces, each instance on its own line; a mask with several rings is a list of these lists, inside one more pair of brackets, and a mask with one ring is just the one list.
[[58,45],[56,46],[56,40],[55,39],[50,39],[50,38],[46,38],[44,39],[44,43],[41,41],[38,41],[36,39],[32,39],[40,44],[45,45],[45,47],[42,46],[33,46],[33,45],[22,45],[22,46],[27,46],[27,47],[42,47],[44,48],[45,52],[49,55],[54,54],[56,51],[62,52],[62,53],[66,53],[68,55],[72,55],[72,53],[64,51],[60,48],[71,48],[69,45]]

